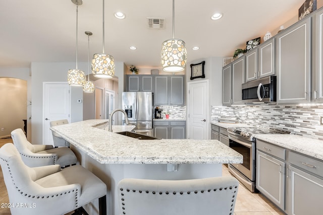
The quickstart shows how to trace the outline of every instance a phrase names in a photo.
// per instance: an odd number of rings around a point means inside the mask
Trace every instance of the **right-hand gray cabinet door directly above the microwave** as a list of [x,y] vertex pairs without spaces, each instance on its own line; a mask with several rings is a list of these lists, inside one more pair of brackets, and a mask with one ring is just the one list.
[[258,79],[275,75],[275,38],[258,47]]

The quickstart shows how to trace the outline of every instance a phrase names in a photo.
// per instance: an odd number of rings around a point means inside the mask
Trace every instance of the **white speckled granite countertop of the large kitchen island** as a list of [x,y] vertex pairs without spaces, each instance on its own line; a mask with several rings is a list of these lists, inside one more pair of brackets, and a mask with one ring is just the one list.
[[139,140],[99,129],[106,120],[86,120],[51,127],[101,164],[229,164],[242,155],[219,140]]

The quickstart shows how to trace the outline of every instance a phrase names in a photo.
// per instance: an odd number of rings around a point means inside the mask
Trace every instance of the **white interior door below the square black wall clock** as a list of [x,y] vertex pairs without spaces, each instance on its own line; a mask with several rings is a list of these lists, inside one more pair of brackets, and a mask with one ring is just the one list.
[[208,139],[208,80],[188,82],[188,138]]

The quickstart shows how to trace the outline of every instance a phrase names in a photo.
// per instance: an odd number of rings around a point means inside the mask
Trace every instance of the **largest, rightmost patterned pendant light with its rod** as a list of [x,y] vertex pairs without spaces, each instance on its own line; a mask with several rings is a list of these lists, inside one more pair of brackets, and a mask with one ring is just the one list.
[[185,42],[175,39],[175,0],[173,0],[173,38],[161,44],[161,65],[164,71],[176,73],[185,69],[186,58]]

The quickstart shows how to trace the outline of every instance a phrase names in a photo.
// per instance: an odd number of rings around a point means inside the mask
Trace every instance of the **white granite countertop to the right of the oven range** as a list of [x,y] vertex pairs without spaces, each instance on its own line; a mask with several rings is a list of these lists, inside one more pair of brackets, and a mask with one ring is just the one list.
[[322,140],[294,134],[255,134],[255,137],[285,149],[323,160]]

